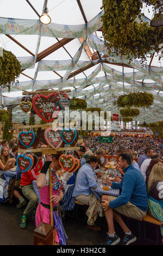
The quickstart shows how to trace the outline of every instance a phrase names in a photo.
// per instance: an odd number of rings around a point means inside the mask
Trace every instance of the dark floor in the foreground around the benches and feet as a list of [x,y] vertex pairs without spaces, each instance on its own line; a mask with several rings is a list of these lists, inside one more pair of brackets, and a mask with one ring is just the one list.
[[[29,217],[27,228],[20,228],[20,219],[23,209],[17,209],[16,205],[8,202],[0,205],[0,245],[33,245],[33,231],[35,221]],[[64,228],[68,239],[67,245],[101,245],[105,240],[107,225],[105,217],[99,218],[97,224],[101,225],[100,231],[86,228],[86,223],[73,217],[65,216]],[[139,240],[132,245],[155,245],[152,242]]]

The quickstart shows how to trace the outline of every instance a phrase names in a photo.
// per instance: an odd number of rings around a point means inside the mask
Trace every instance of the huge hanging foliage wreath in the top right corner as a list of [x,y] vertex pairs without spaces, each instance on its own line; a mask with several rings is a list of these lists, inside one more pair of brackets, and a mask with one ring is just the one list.
[[116,54],[129,60],[141,58],[143,63],[147,60],[146,54],[159,53],[162,28],[153,28],[143,22],[141,13],[143,3],[153,6],[156,2],[159,1],[103,0],[103,36],[109,56]]

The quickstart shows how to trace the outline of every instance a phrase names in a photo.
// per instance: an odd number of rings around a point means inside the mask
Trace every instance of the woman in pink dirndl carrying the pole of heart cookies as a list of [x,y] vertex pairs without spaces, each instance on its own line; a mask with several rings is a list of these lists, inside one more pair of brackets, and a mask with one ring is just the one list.
[[[53,202],[53,218],[54,228],[57,227],[55,242],[57,245],[66,245],[67,236],[62,226],[61,215],[57,216],[57,206],[63,198],[62,182],[59,180],[57,170],[61,169],[59,164],[60,154],[46,155],[46,162],[43,165],[41,172],[36,180],[36,185],[39,188],[40,203],[37,205],[35,224],[36,227],[41,223],[51,223],[50,202]],[[52,167],[52,197],[49,195],[49,171],[48,167]]]

